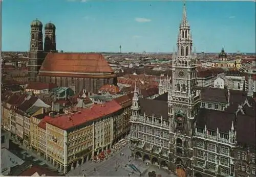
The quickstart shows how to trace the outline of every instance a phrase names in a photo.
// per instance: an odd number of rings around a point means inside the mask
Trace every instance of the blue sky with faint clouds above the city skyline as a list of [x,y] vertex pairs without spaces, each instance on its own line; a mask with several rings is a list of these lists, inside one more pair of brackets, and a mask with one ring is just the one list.
[[[66,52],[173,52],[182,2],[3,0],[2,50],[29,49],[30,22],[55,24]],[[255,2],[188,1],[197,52],[255,52]]]

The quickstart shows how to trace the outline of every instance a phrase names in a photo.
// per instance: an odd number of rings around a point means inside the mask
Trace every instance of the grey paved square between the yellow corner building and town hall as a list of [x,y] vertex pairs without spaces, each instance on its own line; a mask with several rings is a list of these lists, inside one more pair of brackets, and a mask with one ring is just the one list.
[[[120,153],[123,153],[124,156],[120,156]],[[140,173],[135,172],[131,167],[126,166],[129,164],[128,156],[131,155],[131,150],[127,146],[117,151],[113,157],[110,157],[108,160],[95,163],[95,162],[86,162],[80,167],[75,168],[74,170],[69,171],[67,176],[128,176],[129,173],[134,172],[131,176],[140,176]],[[156,174],[161,174],[162,177],[167,176],[176,176],[168,174],[167,171],[159,169],[156,166],[147,166],[142,160],[131,159],[137,168],[142,172],[142,176],[147,176],[148,171],[156,171]],[[95,171],[94,171],[95,168]],[[147,170],[148,169],[148,170]],[[147,170],[147,171],[146,171]],[[143,171],[145,171],[143,173]]]

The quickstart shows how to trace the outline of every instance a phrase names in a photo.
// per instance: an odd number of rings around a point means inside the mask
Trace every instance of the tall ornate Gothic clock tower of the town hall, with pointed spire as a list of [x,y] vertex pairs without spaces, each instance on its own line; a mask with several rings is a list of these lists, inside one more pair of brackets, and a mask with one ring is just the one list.
[[172,91],[168,92],[168,116],[170,123],[170,166],[193,176],[192,135],[195,116],[200,108],[201,92],[196,90],[197,56],[192,51],[193,41],[187,21],[186,6],[179,27],[177,52],[173,53]]

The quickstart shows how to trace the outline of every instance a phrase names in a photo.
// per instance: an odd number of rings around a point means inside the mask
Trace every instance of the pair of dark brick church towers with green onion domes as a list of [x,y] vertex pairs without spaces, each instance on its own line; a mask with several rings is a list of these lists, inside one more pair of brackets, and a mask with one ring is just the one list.
[[56,27],[49,22],[45,25],[45,41],[43,42],[42,23],[34,20],[30,24],[30,50],[28,64],[28,79],[36,81],[37,73],[49,52],[57,52],[56,50]]

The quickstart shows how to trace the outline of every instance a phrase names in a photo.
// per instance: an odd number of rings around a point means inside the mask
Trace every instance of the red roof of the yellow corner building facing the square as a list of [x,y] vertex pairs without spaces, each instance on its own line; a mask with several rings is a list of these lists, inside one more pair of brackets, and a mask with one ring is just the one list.
[[118,103],[116,103],[115,100],[112,100],[102,105],[93,105],[93,107],[90,109],[81,109],[80,112],[74,114],[61,115],[58,117],[47,119],[47,122],[62,130],[68,130],[76,127],[77,125],[95,120],[105,115],[112,114],[120,110],[121,108],[122,107]]

